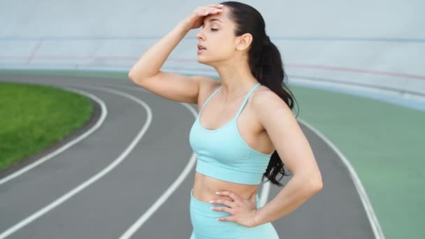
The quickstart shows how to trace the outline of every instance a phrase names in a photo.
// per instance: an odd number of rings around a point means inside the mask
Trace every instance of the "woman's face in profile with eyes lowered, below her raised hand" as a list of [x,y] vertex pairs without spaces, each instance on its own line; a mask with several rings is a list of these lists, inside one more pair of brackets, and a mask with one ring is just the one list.
[[198,43],[206,48],[197,52],[199,63],[213,66],[231,58],[236,50],[235,24],[229,19],[230,9],[224,6],[222,10],[222,13],[204,17],[201,31],[196,34]]

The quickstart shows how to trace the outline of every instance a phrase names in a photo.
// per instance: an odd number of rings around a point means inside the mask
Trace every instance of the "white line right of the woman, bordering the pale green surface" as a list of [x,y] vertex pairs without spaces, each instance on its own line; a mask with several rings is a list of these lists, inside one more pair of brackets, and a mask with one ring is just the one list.
[[321,133],[320,131],[318,131],[317,129],[315,129],[313,126],[311,126],[307,122],[303,121],[303,119],[300,119],[300,118],[297,118],[297,119],[302,124],[304,124],[305,126],[307,126],[308,129],[310,129],[311,131],[315,132],[317,134],[317,136],[319,136],[320,138],[322,138],[322,140],[324,140],[324,142],[326,144],[328,144],[329,147],[331,147],[331,149],[334,152],[336,152],[336,154],[341,159],[341,161],[343,161],[343,163],[347,167],[348,171],[350,172],[350,177],[352,178],[352,180],[354,182],[354,186],[356,187],[357,192],[359,193],[359,196],[360,196],[360,199],[361,199],[361,203],[363,203],[363,207],[366,210],[366,215],[368,215],[370,226],[372,226],[372,230],[373,230],[373,234],[375,235],[375,238],[377,238],[377,239],[384,239],[385,238],[384,237],[384,233],[382,232],[380,223],[377,220],[377,217],[375,215],[375,211],[372,208],[372,204],[369,201],[368,194],[366,194],[366,190],[363,188],[363,184],[361,184],[361,181],[359,179],[359,176],[357,175],[356,171],[354,170],[354,168],[350,164],[350,161],[348,161],[347,157],[345,157],[345,155],[342,152],[340,152],[340,150],[338,150],[338,147],[336,147],[336,145],[334,145],[331,142],[331,140],[329,140],[328,138],[326,138],[326,136],[324,136],[323,133]]

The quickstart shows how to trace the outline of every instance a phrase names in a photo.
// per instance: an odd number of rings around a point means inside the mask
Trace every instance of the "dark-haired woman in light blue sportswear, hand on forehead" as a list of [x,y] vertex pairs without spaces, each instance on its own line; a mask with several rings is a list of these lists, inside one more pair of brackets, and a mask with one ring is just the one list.
[[[221,80],[160,71],[187,32],[201,26],[198,62],[214,67]],[[198,156],[191,239],[279,238],[271,222],[322,189],[315,157],[291,112],[293,98],[282,88],[280,52],[251,6],[226,1],[196,8],[145,52],[129,78],[166,99],[198,103],[189,133]],[[276,177],[284,175],[283,165],[294,176],[259,208],[261,180],[282,186]]]

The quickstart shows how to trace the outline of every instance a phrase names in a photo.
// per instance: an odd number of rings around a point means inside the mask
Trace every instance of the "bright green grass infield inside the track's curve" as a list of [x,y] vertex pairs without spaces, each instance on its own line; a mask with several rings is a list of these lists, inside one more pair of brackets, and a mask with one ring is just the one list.
[[73,92],[0,82],[0,170],[62,140],[92,112],[92,101]]

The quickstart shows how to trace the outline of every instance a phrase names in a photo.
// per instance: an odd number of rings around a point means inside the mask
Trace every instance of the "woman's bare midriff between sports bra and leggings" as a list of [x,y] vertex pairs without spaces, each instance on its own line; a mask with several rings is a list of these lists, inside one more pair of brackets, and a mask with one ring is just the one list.
[[234,191],[239,196],[247,199],[250,198],[253,194],[257,194],[259,185],[252,184],[238,184],[234,182],[226,182],[223,180],[218,180],[216,178],[210,178],[206,175],[196,172],[194,187],[193,187],[193,196],[199,201],[204,203],[209,203],[211,200],[224,198],[229,201],[233,201],[232,198],[228,196],[220,196],[215,194],[216,191]]

